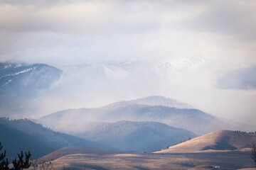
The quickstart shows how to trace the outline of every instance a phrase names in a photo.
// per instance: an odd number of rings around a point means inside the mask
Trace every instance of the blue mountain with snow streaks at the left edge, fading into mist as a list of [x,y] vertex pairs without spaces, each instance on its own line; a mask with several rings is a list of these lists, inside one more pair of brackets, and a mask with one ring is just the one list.
[[31,117],[38,109],[38,96],[60,79],[62,73],[47,64],[0,63],[1,116]]

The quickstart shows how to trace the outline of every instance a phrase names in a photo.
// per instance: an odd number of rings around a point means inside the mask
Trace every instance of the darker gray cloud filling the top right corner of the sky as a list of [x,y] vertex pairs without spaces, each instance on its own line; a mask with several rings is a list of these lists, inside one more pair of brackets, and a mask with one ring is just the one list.
[[233,35],[242,40],[255,40],[256,15],[255,1],[215,1],[208,4],[194,18],[188,18],[174,23],[178,29]]

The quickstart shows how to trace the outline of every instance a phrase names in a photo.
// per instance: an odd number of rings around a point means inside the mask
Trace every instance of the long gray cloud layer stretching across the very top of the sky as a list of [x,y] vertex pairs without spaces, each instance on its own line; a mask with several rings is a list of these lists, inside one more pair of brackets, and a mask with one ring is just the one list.
[[255,40],[255,5],[255,1],[0,1],[0,30],[102,35],[164,28]]

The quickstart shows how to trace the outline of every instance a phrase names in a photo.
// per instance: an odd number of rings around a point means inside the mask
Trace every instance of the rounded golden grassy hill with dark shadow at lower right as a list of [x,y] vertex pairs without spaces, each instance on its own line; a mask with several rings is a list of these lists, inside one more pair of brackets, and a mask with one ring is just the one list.
[[156,153],[250,151],[255,134],[231,130],[210,132]]

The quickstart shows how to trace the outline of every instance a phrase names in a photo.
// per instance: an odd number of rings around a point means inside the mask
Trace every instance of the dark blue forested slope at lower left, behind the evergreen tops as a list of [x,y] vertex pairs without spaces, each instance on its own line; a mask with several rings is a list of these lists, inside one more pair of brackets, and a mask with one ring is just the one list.
[[31,151],[33,159],[62,147],[104,146],[72,135],[55,132],[31,120],[9,120],[0,118],[0,142],[7,151],[7,157],[16,157],[23,151]]

